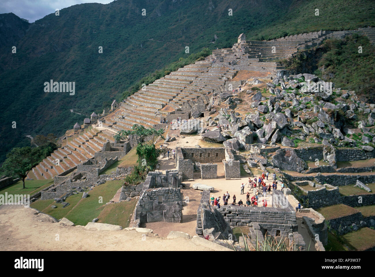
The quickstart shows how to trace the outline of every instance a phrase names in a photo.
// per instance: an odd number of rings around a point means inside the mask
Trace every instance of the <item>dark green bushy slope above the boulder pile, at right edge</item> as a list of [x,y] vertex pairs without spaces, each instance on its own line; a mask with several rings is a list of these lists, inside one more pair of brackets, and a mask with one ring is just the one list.
[[[359,53],[359,47],[362,47],[362,53]],[[367,36],[354,33],[345,39],[329,39],[323,45],[299,51],[295,57],[281,60],[281,63],[296,73],[314,72],[325,81],[335,83],[335,87],[354,90],[369,102],[375,101],[375,47]]]

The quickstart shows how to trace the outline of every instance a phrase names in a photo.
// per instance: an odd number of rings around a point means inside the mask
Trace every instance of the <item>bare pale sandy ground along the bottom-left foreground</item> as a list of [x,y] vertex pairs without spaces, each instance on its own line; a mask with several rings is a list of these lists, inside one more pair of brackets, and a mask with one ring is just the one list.
[[185,238],[163,239],[153,233],[142,239],[142,233],[135,230],[92,231],[64,226],[33,213],[33,209],[21,205],[0,206],[0,251],[229,250],[213,242],[197,244]]

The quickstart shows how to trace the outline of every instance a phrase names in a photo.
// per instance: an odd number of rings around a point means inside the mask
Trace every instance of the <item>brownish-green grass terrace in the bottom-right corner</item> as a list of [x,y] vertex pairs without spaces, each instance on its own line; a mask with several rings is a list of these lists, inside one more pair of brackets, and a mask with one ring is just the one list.
[[357,251],[363,251],[375,246],[375,231],[364,227],[342,236],[345,242]]

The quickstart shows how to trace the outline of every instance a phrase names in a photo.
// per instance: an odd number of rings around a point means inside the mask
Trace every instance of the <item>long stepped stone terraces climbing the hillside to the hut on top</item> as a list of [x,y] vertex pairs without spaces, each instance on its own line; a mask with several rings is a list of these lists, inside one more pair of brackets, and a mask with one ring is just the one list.
[[[373,29],[367,28],[366,32],[373,32]],[[114,142],[113,135],[116,132],[129,130],[134,124],[154,127],[160,123],[160,116],[180,109],[184,102],[195,101],[199,96],[213,92],[222,92],[226,81],[232,80],[240,70],[268,72],[274,76],[277,70],[284,67],[270,60],[291,56],[300,47],[312,47],[324,39],[342,38],[351,32],[365,31],[320,31],[274,41],[246,41],[242,34],[232,48],[213,50],[206,59],[179,68],[143,86],[102,119],[103,128],[87,128],[67,137],[62,148],[33,168],[29,178],[49,179],[67,170],[72,171],[77,164],[101,151],[105,142]],[[275,49],[276,53],[273,53]]]

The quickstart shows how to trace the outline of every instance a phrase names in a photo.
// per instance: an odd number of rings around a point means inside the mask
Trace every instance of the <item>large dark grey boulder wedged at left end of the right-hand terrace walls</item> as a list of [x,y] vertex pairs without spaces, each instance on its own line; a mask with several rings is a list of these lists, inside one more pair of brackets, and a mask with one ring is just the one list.
[[294,149],[283,148],[276,151],[272,157],[273,165],[281,170],[301,172],[308,168],[305,161],[297,156]]

